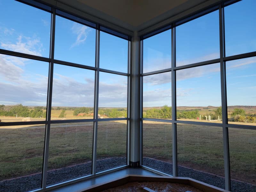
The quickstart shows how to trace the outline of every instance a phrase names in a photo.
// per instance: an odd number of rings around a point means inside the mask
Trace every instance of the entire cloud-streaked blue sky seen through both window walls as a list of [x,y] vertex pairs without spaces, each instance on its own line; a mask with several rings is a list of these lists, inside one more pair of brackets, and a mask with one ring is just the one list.
[[[254,0],[225,11],[226,55],[256,51]],[[10,14],[12,13],[12,14]],[[51,14],[0,0],[0,48],[49,57]],[[238,25],[239,24],[239,25]],[[54,59],[95,66],[96,30],[56,16]],[[176,28],[176,66],[217,59],[218,11]],[[100,32],[100,68],[127,72],[128,41]],[[143,41],[143,72],[171,68],[171,30]],[[49,63],[0,55],[0,104],[46,106]],[[256,57],[226,63],[228,105],[256,105]],[[99,107],[127,107],[127,76],[100,72]],[[52,106],[93,107],[95,71],[54,64]],[[220,106],[220,64],[176,72],[177,106]],[[143,77],[143,107],[171,106],[171,72]]]

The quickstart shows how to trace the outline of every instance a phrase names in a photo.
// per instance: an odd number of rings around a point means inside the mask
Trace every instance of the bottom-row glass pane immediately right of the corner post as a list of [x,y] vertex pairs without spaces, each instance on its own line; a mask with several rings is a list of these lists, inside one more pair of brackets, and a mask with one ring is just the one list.
[[142,164],[172,175],[172,123],[143,121]]

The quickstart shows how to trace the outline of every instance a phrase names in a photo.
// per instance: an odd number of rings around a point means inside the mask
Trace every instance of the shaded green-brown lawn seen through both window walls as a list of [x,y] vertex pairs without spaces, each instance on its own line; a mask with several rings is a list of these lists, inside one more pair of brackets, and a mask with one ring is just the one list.
[[[42,171],[45,125],[0,129],[0,180]],[[126,156],[126,121],[99,122],[97,158]],[[93,123],[51,126],[49,169],[92,160]],[[177,125],[178,164],[224,175],[222,128]],[[256,131],[229,129],[231,178],[255,184]],[[172,162],[171,123],[143,122],[143,156]]]

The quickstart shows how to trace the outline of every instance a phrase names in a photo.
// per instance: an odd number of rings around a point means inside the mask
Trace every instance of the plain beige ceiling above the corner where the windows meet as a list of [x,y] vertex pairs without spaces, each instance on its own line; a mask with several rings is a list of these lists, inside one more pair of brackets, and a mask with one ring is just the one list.
[[207,0],[57,0],[120,27],[139,31]]

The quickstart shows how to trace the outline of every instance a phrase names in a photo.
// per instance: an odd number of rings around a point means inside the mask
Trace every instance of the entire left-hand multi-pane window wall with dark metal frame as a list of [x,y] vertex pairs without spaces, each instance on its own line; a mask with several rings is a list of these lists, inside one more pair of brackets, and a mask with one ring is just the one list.
[[34,3],[0,2],[0,191],[128,162],[129,37]]

